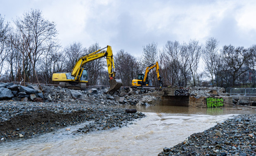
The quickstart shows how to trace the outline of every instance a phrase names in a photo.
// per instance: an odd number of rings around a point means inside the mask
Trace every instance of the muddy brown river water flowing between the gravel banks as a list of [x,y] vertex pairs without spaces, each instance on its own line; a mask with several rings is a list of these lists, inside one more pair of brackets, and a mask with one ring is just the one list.
[[192,133],[202,132],[237,114],[255,114],[254,109],[185,108],[177,106],[129,107],[147,117],[122,128],[73,135],[84,124],[52,133],[0,143],[0,155],[6,156],[156,156],[164,147],[172,147]]

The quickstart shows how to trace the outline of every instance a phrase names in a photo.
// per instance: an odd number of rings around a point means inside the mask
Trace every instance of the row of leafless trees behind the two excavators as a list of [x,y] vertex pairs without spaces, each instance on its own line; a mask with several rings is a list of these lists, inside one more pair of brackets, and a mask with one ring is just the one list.
[[[101,48],[98,43],[85,48],[80,42],[61,47],[57,34],[55,23],[43,18],[40,10],[31,9],[13,23],[5,22],[0,15],[1,81],[53,83],[52,73],[71,72],[81,56]],[[209,38],[204,44],[192,39],[188,43],[167,41],[162,48],[152,42],[142,48],[140,57],[123,49],[114,55],[116,76],[124,86],[130,86],[137,73],[144,73],[146,67],[156,61],[165,85],[256,85],[256,45],[219,48],[218,40]],[[108,85],[104,58],[89,62],[85,69],[89,74],[88,85]],[[154,71],[149,76],[153,85],[158,85]]]

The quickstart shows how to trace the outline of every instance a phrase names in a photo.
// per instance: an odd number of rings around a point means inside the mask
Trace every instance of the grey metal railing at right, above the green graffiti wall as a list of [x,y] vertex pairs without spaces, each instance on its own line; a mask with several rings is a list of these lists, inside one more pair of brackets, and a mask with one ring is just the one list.
[[227,88],[229,94],[256,95],[256,88]]

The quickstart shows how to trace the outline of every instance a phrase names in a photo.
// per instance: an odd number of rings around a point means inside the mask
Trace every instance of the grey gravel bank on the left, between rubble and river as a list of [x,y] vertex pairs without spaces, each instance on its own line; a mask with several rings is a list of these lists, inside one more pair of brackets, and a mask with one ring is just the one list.
[[126,126],[130,121],[144,116],[140,112],[126,113],[122,108],[95,105],[80,100],[60,103],[1,101],[0,142],[31,137],[87,121],[90,123],[84,128],[79,128],[77,133],[107,130]]

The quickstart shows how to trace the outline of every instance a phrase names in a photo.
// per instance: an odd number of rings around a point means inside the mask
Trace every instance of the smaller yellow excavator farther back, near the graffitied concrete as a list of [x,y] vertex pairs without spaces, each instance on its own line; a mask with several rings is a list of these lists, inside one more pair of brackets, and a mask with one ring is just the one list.
[[139,73],[137,76],[137,79],[132,80],[132,87],[143,87],[145,89],[154,88],[155,86],[149,85],[149,80],[148,80],[148,73],[153,68],[156,68],[157,79],[159,82],[159,87],[161,88],[164,83],[159,73],[159,65],[157,61],[155,64],[151,64],[149,67],[146,68],[145,74]]

